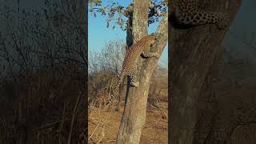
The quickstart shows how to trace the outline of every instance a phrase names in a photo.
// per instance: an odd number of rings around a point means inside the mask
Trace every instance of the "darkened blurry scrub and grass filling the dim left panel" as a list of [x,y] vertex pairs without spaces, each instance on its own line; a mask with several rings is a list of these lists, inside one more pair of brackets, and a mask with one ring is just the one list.
[[45,1],[42,10],[3,2],[0,143],[78,143],[86,102],[86,10],[77,2]]

